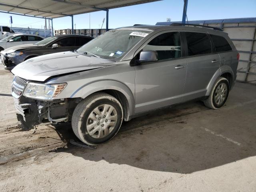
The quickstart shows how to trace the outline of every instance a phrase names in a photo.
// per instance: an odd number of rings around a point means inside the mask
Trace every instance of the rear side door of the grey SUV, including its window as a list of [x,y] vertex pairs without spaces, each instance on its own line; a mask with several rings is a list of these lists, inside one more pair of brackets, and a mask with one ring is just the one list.
[[184,101],[204,96],[207,86],[220,68],[220,56],[212,52],[212,43],[205,32],[184,32],[188,69]]

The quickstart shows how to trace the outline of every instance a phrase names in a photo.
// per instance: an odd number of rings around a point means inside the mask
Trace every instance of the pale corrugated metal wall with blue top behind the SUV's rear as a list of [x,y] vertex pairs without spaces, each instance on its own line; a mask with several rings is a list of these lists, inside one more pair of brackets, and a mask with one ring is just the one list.
[[[158,22],[157,25],[169,25],[172,22]],[[240,53],[237,68],[237,80],[256,84],[256,18],[235,18],[224,20],[188,21],[222,28],[233,41]]]

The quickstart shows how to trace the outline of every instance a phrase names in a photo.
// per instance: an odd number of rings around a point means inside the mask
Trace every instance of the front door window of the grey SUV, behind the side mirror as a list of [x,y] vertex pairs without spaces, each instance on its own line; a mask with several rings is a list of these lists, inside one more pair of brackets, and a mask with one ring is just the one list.
[[151,40],[143,50],[158,52],[158,60],[179,58],[181,56],[180,33],[164,33]]

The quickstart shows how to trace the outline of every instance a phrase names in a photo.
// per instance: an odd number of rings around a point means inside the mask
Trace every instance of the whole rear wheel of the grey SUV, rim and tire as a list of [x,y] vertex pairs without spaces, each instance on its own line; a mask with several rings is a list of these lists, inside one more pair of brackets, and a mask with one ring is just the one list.
[[211,92],[210,96],[204,100],[205,106],[212,108],[212,109],[219,109],[221,108],[226,100],[228,99],[229,93],[229,82],[224,77],[219,77]]

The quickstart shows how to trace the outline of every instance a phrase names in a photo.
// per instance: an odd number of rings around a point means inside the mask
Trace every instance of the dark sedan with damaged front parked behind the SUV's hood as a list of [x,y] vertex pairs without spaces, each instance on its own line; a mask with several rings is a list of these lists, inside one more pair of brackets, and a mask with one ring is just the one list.
[[74,51],[86,44],[92,37],[83,35],[57,35],[46,38],[36,44],[14,46],[1,51],[1,63],[6,70],[30,58],[64,51]]

